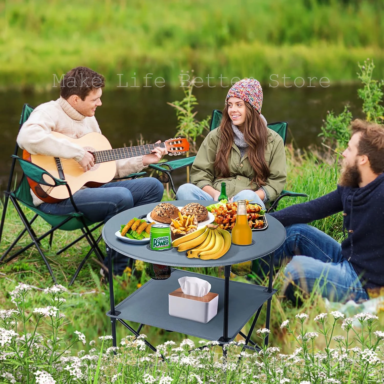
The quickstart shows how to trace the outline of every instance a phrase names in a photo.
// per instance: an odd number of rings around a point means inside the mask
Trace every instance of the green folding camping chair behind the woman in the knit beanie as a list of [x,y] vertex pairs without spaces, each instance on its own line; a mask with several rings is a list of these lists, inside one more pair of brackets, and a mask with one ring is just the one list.
[[[219,111],[218,109],[214,109],[212,112],[212,118],[210,122],[210,131],[213,131],[216,129],[221,122],[222,118],[222,112]],[[285,140],[286,140],[286,134],[288,131],[288,122],[286,121],[279,121],[279,122],[273,122],[267,125],[268,128],[272,129],[276,133],[278,133],[284,140],[284,145],[285,145]],[[185,157],[182,159],[177,159],[173,161],[167,161],[159,164],[150,164],[149,167],[152,169],[157,170],[157,177],[159,180],[163,183],[170,182],[172,186],[172,190],[174,194],[176,194],[176,188],[174,181],[172,179],[172,172],[177,169],[182,169],[184,167],[192,166],[196,156],[191,156],[191,157]],[[280,196],[274,201],[271,202],[271,206],[268,209],[268,212],[271,210],[275,210],[277,208],[278,202],[285,196],[290,196],[290,197],[308,197],[307,194],[305,193],[298,193],[298,192],[291,192],[288,190],[282,190],[280,193]]]

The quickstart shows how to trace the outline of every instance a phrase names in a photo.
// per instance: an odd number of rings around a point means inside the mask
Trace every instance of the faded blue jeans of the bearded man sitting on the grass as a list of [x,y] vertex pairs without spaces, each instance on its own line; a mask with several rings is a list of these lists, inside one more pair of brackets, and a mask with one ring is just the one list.
[[284,270],[285,295],[290,300],[296,301],[292,283],[307,293],[317,289],[330,301],[368,299],[359,276],[341,255],[341,245],[336,240],[307,224],[290,225],[285,230],[286,239],[275,252],[275,262],[291,259]]

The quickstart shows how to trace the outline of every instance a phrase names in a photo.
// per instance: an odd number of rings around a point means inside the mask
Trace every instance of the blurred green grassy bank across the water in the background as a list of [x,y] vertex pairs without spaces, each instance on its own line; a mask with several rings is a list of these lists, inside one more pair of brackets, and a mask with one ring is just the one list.
[[[180,71],[210,75],[327,76],[354,81],[356,63],[384,74],[384,5],[354,0],[5,0],[0,3],[0,86],[50,88],[78,65],[109,87],[143,83],[146,73],[179,84]],[[223,80],[225,83],[227,80]],[[273,85],[276,83],[272,83]]]

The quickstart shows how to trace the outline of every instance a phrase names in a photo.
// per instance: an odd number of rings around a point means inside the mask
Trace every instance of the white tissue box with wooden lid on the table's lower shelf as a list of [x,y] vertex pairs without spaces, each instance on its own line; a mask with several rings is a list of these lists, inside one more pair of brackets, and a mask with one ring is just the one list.
[[168,294],[170,316],[180,317],[199,323],[208,323],[217,314],[218,294],[209,292],[198,297],[185,295],[181,288]]

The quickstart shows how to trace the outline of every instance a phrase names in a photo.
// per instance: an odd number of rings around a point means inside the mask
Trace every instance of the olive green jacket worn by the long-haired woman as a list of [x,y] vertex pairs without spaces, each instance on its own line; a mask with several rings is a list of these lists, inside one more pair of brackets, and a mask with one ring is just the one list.
[[[270,174],[263,188],[268,200],[275,200],[283,190],[286,180],[286,161],[284,142],[281,136],[268,129],[267,144],[265,147],[265,161],[269,166]],[[259,185],[252,182],[254,171],[248,161],[248,154],[243,157],[240,155],[240,149],[232,144],[232,149],[228,157],[228,166],[230,176],[219,178],[214,169],[216,153],[220,141],[220,128],[209,132],[197,152],[195,161],[192,164],[190,180],[192,184],[199,188],[210,185],[216,190],[221,189],[221,183],[225,182],[227,186],[228,197],[233,197],[244,189],[256,191]]]

